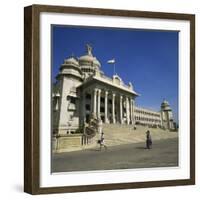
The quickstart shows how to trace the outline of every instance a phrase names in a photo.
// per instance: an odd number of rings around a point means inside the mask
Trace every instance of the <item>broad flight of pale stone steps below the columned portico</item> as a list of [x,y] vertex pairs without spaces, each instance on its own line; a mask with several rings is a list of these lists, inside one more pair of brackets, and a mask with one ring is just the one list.
[[170,132],[159,128],[148,128],[133,125],[104,124],[103,132],[107,146],[130,144],[146,141],[146,131],[150,130],[153,141],[177,137],[177,132]]

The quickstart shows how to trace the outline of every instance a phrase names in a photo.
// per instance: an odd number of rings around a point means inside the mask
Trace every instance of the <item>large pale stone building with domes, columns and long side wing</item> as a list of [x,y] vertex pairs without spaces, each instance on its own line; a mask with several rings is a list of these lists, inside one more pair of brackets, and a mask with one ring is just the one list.
[[173,130],[172,109],[167,101],[156,112],[136,107],[138,93],[132,83],[125,84],[120,76],[112,78],[101,70],[101,63],[87,45],[86,54],[64,60],[53,85],[53,132],[73,134],[89,123],[91,116],[103,123],[160,127]]

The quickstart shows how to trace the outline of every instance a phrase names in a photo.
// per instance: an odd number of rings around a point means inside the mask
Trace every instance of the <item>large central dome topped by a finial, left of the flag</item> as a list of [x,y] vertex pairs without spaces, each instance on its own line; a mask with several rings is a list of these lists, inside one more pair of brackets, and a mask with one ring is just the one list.
[[86,55],[81,56],[79,61],[79,66],[82,72],[85,72],[87,76],[92,75],[95,71],[99,70],[101,67],[101,63],[97,60],[96,57],[92,55],[92,46],[86,45]]

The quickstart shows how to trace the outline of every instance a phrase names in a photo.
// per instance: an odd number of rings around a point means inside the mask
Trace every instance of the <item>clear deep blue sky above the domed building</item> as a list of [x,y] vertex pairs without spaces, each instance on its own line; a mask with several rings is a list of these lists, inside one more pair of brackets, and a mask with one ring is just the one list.
[[116,73],[141,94],[136,105],[158,111],[166,99],[178,121],[178,32],[53,26],[52,41],[53,78],[65,58],[84,55],[90,43],[107,76],[115,58]]

